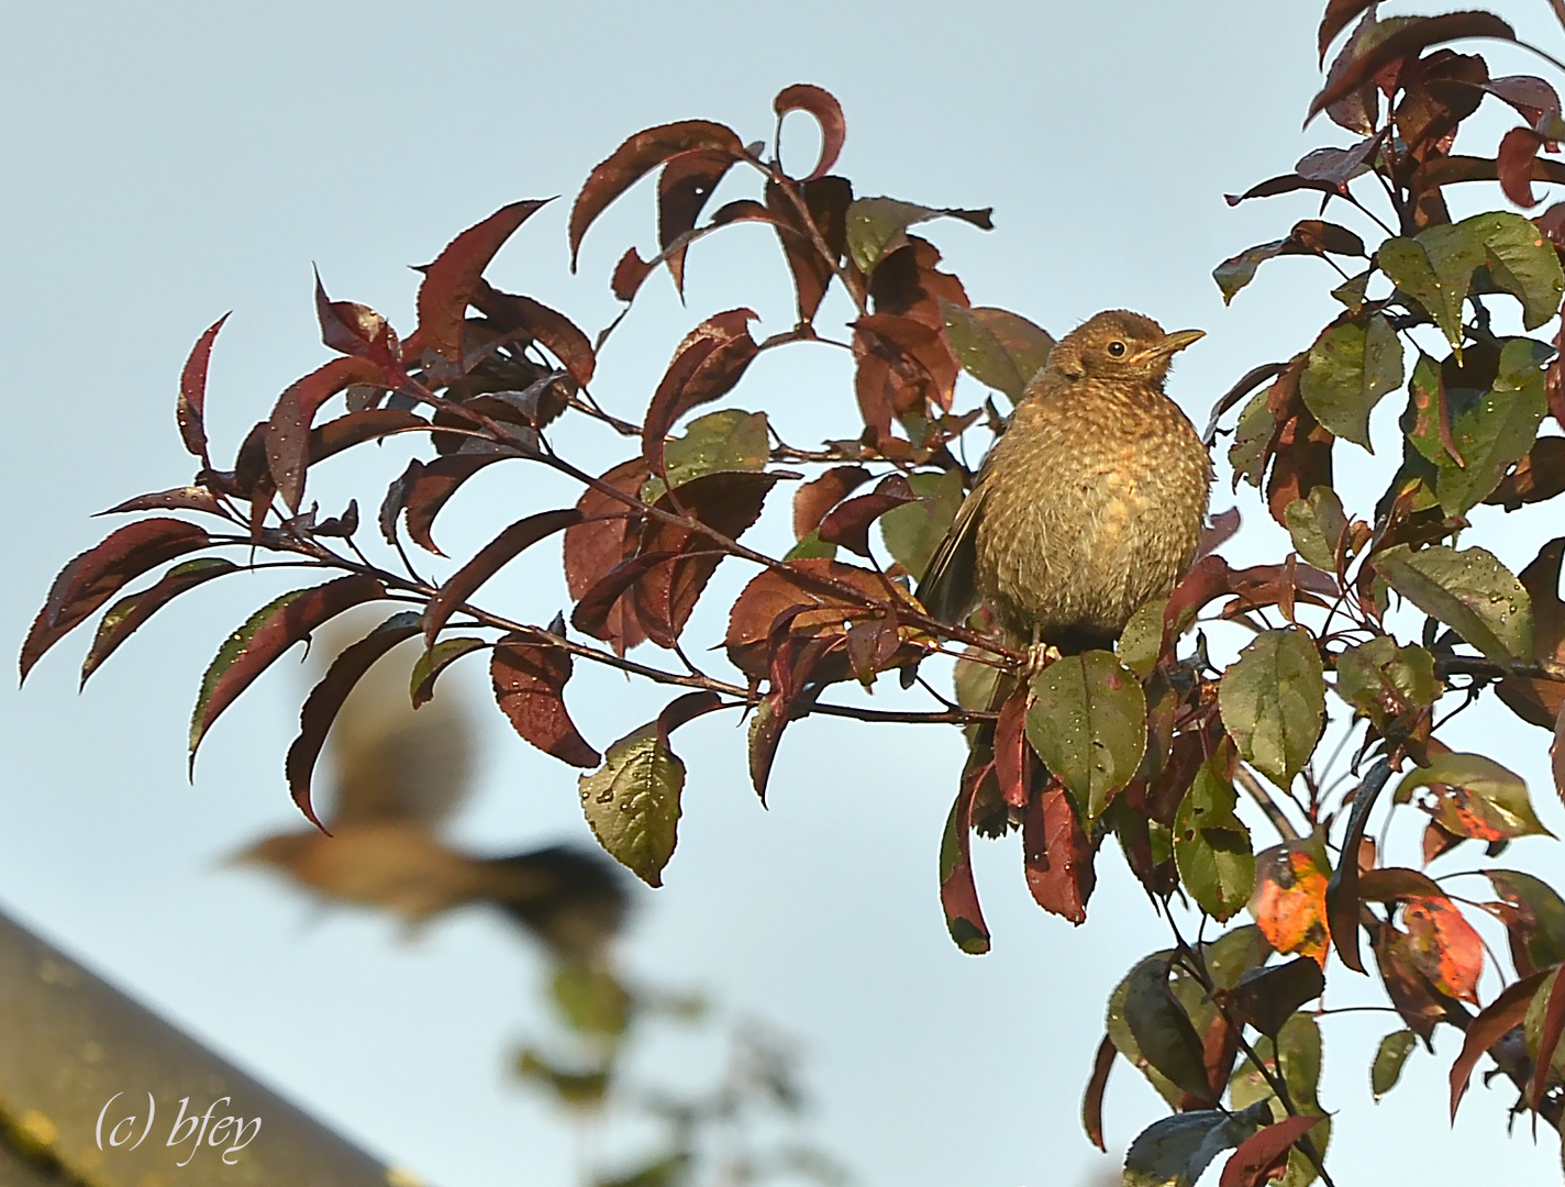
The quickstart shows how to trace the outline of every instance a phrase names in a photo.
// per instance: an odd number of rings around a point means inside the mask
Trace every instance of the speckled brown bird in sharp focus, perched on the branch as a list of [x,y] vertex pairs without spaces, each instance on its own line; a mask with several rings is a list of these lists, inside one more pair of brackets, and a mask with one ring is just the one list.
[[919,584],[936,619],[980,601],[1016,647],[1111,647],[1189,568],[1211,459],[1163,381],[1200,330],[1108,310],[1033,377]]

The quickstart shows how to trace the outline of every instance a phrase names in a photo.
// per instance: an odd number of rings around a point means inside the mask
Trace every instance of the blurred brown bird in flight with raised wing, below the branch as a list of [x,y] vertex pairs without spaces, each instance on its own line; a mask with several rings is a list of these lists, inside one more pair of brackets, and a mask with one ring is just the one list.
[[[347,617],[347,615],[344,615]],[[335,656],[368,620],[322,631]],[[269,866],[313,894],[376,907],[418,927],[466,904],[488,904],[520,922],[552,955],[598,963],[629,907],[623,871],[599,849],[549,846],[513,857],[476,857],[440,833],[466,799],[476,738],[462,686],[446,676],[419,709],[408,697],[416,651],[376,664],[332,725],[332,789],[318,828],[266,836],[233,860]]]

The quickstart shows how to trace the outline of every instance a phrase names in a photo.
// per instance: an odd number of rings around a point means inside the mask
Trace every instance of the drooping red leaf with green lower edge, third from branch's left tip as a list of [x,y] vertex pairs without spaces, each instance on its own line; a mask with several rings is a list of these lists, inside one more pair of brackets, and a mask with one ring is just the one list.
[[308,639],[310,633],[327,619],[382,597],[385,597],[385,589],[379,581],[365,573],[355,573],[313,589],[283,594],[252,614],[218,648],[218,655],[202,675],[196,711],[191,714],[191,769],[196,767],[196,750],[213,722],[283,651]]

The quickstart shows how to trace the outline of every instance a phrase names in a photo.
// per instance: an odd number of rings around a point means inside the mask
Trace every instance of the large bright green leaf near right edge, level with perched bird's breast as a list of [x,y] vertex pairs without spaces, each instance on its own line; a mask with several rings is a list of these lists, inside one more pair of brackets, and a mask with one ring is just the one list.
[[1532,338],[1512,338],[1499,352],[1495,385],[1470,401],[1446,391],[1451,442],[1459,464],[1441,451],[1430,460],[1440,468],[1435,493],[1449,515],[1465,515],[1482,503],[1506,471],[1532,448],[1548,413],[1543,363],[1554,351]]

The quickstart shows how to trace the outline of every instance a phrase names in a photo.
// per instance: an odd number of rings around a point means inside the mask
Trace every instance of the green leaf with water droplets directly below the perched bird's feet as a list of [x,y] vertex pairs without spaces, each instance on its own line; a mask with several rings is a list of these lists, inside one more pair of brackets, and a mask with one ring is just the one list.
[[1077,802],[1081,827],[1136,775],[1147,749],[1147,700],[1108,651],[1066,656],[1033,681],[1027,739]]

